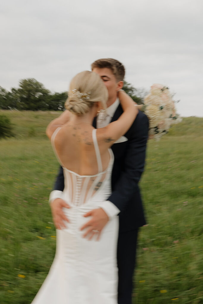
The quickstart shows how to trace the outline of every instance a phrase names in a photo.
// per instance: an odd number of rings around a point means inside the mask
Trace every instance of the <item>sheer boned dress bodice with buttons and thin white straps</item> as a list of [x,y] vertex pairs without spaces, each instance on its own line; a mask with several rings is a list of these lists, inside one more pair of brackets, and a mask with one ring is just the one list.
[[64,198],[70,205],[81,206],[88,204],[92,200],[103,201],[111,193],[111,172],[114,163],[114,154],[111,149],[110,160],[106,170],[103,171],[100,150],[96,138],[96,129],[92,131],[93,145],[96,154],[98,173],[94,175],[79,175],[74,171],[65,168],[56,151],[54,140],[61,127],[57,128],[52,137],[51,143],[54,153],[61,164],[64,172]]

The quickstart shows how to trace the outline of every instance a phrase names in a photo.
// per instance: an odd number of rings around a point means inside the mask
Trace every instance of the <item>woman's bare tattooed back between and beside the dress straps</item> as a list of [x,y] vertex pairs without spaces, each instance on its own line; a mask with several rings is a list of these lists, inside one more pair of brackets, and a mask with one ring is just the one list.
[[[64,168],[79,175],[94,175],[98,173],[99,170],[92,136],[93,129],[90,124],[81,123],[77,125],[67,123],[58,130],[56,136],[54,136],[54,146],[59,161]],[[110,160],[108,151],[109,144],[105,143],[101,132],[98,132],[98,130],[97,134],[102,168],[103,171],[105,171]]]

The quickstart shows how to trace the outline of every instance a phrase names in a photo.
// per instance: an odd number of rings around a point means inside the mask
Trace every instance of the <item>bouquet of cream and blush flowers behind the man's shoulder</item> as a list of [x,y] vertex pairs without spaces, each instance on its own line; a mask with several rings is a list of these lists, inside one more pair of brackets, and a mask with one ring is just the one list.
[[149,118],[149,138],[159,140],[168,133],[171,125],[182,120],[176,112],[172,97],[168,87],[154,84],[145,96],[144,104],[138,105]]

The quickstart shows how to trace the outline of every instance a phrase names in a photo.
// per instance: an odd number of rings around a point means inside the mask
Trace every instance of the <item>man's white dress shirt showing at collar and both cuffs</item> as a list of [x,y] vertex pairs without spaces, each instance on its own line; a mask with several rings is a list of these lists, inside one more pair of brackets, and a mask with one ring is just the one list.
[[[106,109],[106,114],[107,115],[106,115],[106,117],[105,117],[105,119],[103,121],[102,127],[107,126],[110,123],[110,121],[111,121],[112,117],[114,116],[114,113],[115,113],[118,105],[119,105],[119,99],[117,98],[115,100],[115,102],[112,103],[112,105],[110,105]],[[98,121],[97,121],[96,125],[97,125],[97,128],[98,128],[98,125],[99,125]],[[59,190],[53,190],[50,193],[49,202],[51,203],[54,199],[57,199],[57,198],[63,199],[63,192],[59,191]],[[109,218],[112,217],[112,216],[114,216],[114,215],[117,215],[120,212],[120,210],[112,202],[110,202],[110,201],[104,201],[104,202],[102,202],[100,204],[100,207],[107,213],[107,215],[108,215]]]

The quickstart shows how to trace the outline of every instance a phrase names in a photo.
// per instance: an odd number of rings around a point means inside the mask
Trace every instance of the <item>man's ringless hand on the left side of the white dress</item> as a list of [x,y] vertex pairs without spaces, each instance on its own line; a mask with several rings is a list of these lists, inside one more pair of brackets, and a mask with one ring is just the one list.
[[64,221],[69,223],[69,219],[65,216],[63,208],[71,208],[63,199],[54,199],[50,204],[51,213],[54,221],[54,226],[56,229],[61,230],[66,228]]

